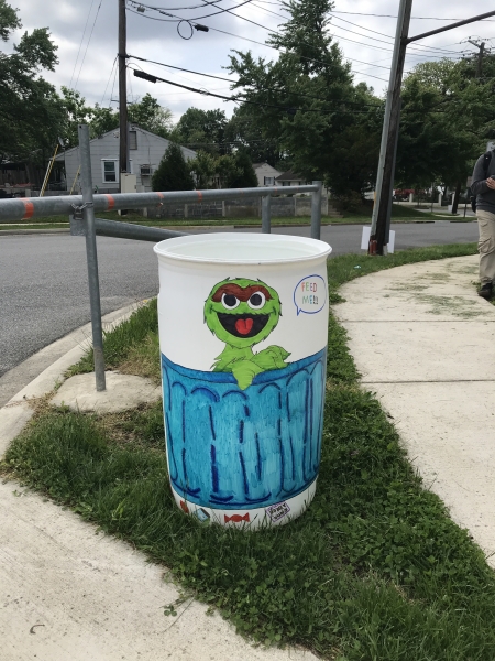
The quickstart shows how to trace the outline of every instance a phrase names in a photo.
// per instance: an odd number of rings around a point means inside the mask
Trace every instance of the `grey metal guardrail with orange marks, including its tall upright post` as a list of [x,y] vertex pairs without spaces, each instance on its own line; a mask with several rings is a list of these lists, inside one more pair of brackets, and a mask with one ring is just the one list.
[[221,188],[219,191],[173,191],[163,193],[120,193],[116,195],[94,195],[91,178],[91,154],[89,129],[79,124],[79,155],[82,195],[59,197],[18,197],[0,199],[0,225],[43,218],[46,216],[69,216],[70,234],[86,237],[86,257],[88,262],[89,303],[91,308],[92,347],[95,355],[95,376],[97,391],[106,390],[103,330],[101,324],[100,285],[98,277],[98,254],[96,237],[117,237],[140,241],[163,241],[186,232],[145,227],[131,223],[121,223],[96,218],[96,213],[119,209],[142,209],[162,206],[167,202],[208,202],[213,199],[239,199],[243,197],[262,198],[262,231],[272,231],[271,201],[273,195],[294,195],[311,193],[311,238],[319,239],[321,230],[321,182],[305,186],[266,186],[260,188]]

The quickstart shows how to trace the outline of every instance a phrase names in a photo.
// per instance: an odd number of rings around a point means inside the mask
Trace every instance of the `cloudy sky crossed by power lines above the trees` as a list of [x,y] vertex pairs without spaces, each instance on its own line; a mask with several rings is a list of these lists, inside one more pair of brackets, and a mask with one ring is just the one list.
[[[55,86],[76,88],[88,102],[117,107],[117,66],[114,64],[118,40],[118,0],[10,0],[19,8],[24,30],[50,28],[58,45],[59,65],[54,74],[46,74]],[[210,32],[196,32],[187,40],[179,36],[177,21],[128,0],[128,53],[176,67],[229,78],[222,69],[229,63],[232,50],[251,50],[255,56],[276,58],[276,51],[266,47],[270,31],[276,31],[284,22],[285,11],[280,0],[146,0],[147,7],[160,7],[174,17],[194,19],[208,25]],[[344,57],[352,63],[355,80],[364,80],[382,94],[387,86],[392,59],[392,43],[396,28],[399,0],[336,0],[330,32],[339,42]],[[483,4],[483,3],[482,3]],[[410,34],[419,34],[481,13],[480,3],[464,0],[431,2],[414,0]],[[488,3],[486,3],[488,4]],[[440,9],[441,6],[441,9]],[[193,8],[193,9],[185,9]],[[234,9],[235,8],[235,9]],[[235,14],[220,12],[232,9]],[[486,8],[488,10],[488,8]],[[216,14],[209,15],[207,14]],[[258,25],[253,24],[258,23]],[[213,29],[216,29],[213,31]],[[190,36],[187,22],[179,25],[184,37]],[[222,31],[222,32],[219,32]],[[229,33],[229,34],[226,34]],[[406,71],[428,59],[447,56],[459,58],[462,53],[476,52],[465,43],[471,37],[484,41],[495,37],[495,20],[474,23],[413,44],[406,61]],[[250,41],[252,40],[252,41]],[[260,42],[260,43],[253,43]],[[494,42],[487,42],[493,45]],[[6,46],[8,50],[9,46]],[[130,61],[144,71],[163,78],[229,95],[229,83],[158,66]],[[222,108],[230,116],[234,105],[163,83],[153,85],[129,75],[129,101],[136,100],[146,91],[155,96],[162,106],[170,108],[176,119],[190,106],[202,109]]]

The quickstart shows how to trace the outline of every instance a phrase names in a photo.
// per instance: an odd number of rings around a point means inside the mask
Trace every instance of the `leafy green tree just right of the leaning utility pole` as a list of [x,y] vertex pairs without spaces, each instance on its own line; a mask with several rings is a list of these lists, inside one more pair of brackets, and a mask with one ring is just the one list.
[[[488,58],[486,64],[490,74],[493,64]],[[397,149],[399,184],[464,185],[495,120],[493,79],[476,79],[475,71],[471,59],[441,59],[422,63],[407,76]]]

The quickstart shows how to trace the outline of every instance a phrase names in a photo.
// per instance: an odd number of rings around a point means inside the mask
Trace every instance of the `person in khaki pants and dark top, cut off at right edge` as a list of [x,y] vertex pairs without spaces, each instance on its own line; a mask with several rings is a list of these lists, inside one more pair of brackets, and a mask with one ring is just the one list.
[[471,192],[476,196],[476,217],[480,230],[480,291],[483,299],[492,299],[495,280],[495,154],[479,158],[473,171]]

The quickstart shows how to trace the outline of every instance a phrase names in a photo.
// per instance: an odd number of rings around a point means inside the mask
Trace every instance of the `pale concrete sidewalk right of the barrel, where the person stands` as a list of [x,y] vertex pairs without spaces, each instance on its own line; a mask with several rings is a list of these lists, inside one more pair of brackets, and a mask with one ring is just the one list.
[[495,306],[476,281],[477,256],[399,267],[345,284],[334,313],[425,485],[491,555]]

